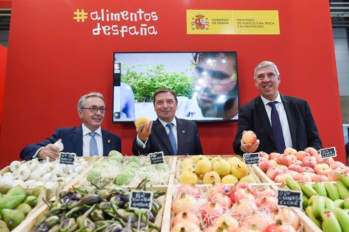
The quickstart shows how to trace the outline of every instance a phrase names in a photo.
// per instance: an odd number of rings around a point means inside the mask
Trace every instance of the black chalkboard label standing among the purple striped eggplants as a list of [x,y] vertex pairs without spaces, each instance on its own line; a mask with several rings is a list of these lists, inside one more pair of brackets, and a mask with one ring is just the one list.
[[131,191],[129,198],[130,209],[146,209],[151,210],[153,204],[153,192],[151,191]]

